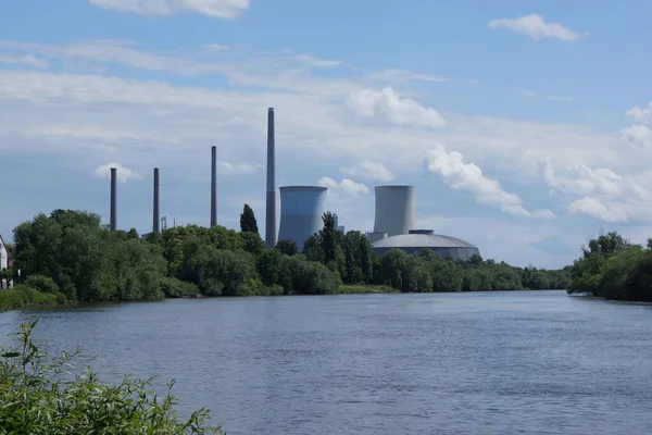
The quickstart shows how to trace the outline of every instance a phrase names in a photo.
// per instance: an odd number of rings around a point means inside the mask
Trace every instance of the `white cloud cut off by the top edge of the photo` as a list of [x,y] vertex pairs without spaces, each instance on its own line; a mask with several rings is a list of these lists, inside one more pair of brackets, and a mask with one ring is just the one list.
[[90,4],[143,15],[195,12],[221,20],[235,20],[249,9],[249,0],[89,0]]

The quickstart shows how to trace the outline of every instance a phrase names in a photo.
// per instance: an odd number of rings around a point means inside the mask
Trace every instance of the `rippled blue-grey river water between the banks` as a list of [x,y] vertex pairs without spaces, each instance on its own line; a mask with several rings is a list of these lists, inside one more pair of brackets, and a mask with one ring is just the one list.
[[652,306],[563,291],[170,300],[0,314],[0,344],[176,378],[238,434],[652,433]]

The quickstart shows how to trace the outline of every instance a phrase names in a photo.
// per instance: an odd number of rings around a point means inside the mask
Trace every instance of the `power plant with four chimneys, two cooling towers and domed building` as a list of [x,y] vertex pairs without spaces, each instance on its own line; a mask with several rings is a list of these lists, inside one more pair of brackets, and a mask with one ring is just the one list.
[[[305,240],[323,227],[328,188],[322,186],[283,186],[280,191],[280,225],[276,226],[276,142],[274,108],[267,110],[267,172],[265,186],[265,246],[272,249],[277,240],[291,240],[300,250]],[[152,233],[159,234],[159,169],[154,167]],[[435,234],[432,229],[416,227],[416,195],[414,186],[376,186],[374,229],[365,234],[373,250],[383,256],[390,249],[406,253],[428,249],[442,258],[467,260],[480,253],[479,249],[456,237]],[[111,231],[117,228],[116,169],[111,167]],[[335,217],[335,227],[344,233],[344,226]],[[217,148],[211,147],[211,227],[217,225]]]

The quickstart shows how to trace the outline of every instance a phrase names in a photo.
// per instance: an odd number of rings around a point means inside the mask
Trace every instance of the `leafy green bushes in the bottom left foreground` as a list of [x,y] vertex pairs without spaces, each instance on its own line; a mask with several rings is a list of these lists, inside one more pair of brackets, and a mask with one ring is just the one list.
[[[120,385],[101,382],[90,369],[62,380],[78,353],[52,358],[36,347],[32,324],[16,334],[20,344],[0,349],[0,435],[186,435],[221,434],[210,427],[209,411],[181,420],[168,391],[160,397],[149,382],[125,376]],[[70,376],[68,376],[70,377]]]

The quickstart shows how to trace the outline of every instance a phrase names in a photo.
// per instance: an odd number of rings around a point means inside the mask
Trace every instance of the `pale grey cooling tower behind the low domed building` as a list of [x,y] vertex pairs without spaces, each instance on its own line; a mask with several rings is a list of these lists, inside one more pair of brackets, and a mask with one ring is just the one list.
[[414,186],[376,186],[375,190],[374,233],[387,233],[391,237],[408,234],[416,226]]

